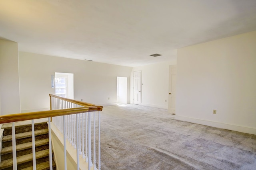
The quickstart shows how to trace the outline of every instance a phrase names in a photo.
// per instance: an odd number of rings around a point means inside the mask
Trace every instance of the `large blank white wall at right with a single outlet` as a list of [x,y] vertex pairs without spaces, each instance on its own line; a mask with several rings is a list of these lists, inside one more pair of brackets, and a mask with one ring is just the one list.
[[256,134],[256,31],[178,49],[176,90],[176,119]]

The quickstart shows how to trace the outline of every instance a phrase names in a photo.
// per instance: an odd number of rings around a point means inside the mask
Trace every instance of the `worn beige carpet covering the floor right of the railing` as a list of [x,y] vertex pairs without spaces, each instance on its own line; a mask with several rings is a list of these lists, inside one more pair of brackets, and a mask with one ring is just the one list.
[[256,135],[174,120],[166,109],[108,106],[102,170],[256,170]]

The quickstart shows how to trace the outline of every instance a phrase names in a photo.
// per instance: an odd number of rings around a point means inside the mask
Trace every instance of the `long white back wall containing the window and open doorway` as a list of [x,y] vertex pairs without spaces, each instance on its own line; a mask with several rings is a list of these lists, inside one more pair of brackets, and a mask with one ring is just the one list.
[[[19,52],[22,112],[50,108],[51,75],[74,73],[74,99],[92,104],[116,104],[116,77],[129,77],[132,67]],[[108,100],[110,98],[110,100]]]

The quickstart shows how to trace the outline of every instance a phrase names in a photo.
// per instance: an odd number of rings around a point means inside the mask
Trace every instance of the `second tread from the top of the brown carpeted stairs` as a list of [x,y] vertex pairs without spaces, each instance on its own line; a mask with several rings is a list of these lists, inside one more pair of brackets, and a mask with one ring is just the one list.
[[[36,147],[41,146],[41,145],[46,145],[48,143],[49,143],[48,139],[41,139],[41,140],[35,141]],[[27,143],[22,143],[22,144],[16,145],[16,151],[30,149],[30,148],[32,148],[32,142],[27,142]],[[8,153],[12,153],[12,146],[2,148],[1,155],[8,154]]]

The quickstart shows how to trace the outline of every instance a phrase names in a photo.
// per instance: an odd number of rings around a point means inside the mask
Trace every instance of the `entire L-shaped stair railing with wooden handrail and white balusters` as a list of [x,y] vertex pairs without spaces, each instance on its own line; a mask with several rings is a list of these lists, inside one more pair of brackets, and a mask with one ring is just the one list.
[[[32,122],[32,150],[33,150],[33,170],[36,170],[35,155],[35,136],[34,136],[34,119],[48,118],[49,129],[49,162],[52,170],[52,145],[51,145],[51,119],[52,124],[63,135],[64,141],[64,169],[67,169],[66,163],[66,140],[76,149],[77,170],[79,170],[79,155],[82,155],[84,161],[88,162],[88,170],[100,170],[100,111],[102,106],[89,104],[82,101],[62,98],[53,94],[50,95],[49,111],[37,111],[30,113],[18,113],[11,115],[0,115],[0,124],[12,123],[12,154],[13,169],[17,170],[16,160],[16,139],[14,122],[31,120]],[[98,167],[96,167],[96,112],[98,112]],[[93,117],[92,117],[93,115]],[[93,125],[91,125],[93,122]],[[92,128],[93,127],[93,139]],[[84,133],[85,132],[85,133]],[[93,154],[92,154],[93,143]],[[85,147],[84,147],[85,145]],[[93,158],[92,158],[93,157]],[[93,162],[92,162],[93,160]]]

